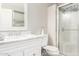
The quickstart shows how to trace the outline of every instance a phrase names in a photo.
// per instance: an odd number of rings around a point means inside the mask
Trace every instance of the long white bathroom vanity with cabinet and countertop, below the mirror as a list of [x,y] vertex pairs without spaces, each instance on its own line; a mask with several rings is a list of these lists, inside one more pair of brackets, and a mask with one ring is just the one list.
[[47,45],[47,35],[10,39],[0,41],[0,56],[41,56],[41,47]]

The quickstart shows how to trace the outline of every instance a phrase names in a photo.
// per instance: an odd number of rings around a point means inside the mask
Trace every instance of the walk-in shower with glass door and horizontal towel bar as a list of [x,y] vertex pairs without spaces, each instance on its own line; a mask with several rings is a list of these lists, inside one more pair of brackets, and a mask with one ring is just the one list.
[[58,47],[62,54],[79,55],[79,4],[58,7]]

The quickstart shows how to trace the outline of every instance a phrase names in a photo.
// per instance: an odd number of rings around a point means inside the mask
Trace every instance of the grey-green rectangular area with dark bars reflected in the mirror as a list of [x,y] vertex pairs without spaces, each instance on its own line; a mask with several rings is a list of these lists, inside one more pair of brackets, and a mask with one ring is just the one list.
[[13,11],[12,16],[12,26],[13,27],[23,27],[24,26],[24,12]]

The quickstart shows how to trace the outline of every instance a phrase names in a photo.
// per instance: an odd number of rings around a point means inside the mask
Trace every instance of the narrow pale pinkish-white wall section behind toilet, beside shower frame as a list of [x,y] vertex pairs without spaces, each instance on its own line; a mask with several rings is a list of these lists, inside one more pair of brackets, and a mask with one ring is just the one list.
[[48,35],[49,45],[56,46],[56,4],[48,7]]

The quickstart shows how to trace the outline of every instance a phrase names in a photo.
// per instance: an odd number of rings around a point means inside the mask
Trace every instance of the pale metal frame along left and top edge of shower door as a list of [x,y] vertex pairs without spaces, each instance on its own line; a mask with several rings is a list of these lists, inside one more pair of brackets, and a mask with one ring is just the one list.
[[[71,3],[66,3],[66,4],[62,4],[62,5],[60,5],[60,6],[57,6],[57,47],[58,47],[58,49],[59,49],[59,51],[60,51],[60,42],[59,42],[59,36],[60,36],[60,15],[59,15],[59,8],[60,7],[63,7],[63,6],[66,6],[66,5],[69,5],[69,4],[71,4]],[[60,52],[61,53],[61,52]],[[61,54],[63,54],[63,53],[61,53]]]

